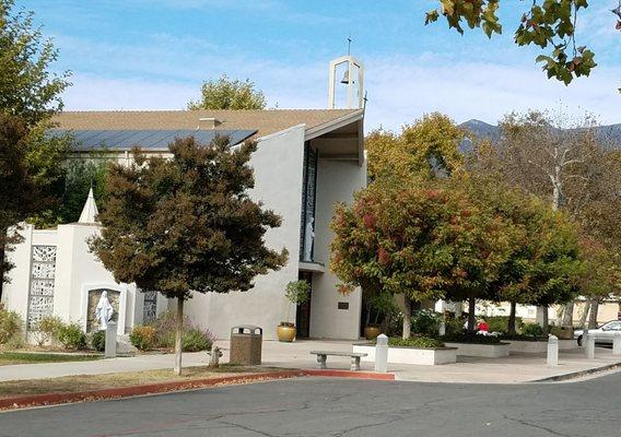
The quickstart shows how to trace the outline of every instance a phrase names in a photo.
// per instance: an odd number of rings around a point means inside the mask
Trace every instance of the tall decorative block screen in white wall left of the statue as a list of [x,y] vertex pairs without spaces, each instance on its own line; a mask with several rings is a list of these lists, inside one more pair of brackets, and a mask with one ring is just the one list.
[[28,290],[28,330],[35,328],[44,317],[54,314],[55,277],[56,246],[33,246]]

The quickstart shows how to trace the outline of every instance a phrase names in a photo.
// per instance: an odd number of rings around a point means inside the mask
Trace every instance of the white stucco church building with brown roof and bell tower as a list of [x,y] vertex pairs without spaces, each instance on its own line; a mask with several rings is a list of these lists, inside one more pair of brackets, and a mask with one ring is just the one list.
[[[355,80],[337,83],[335,74],[343,66],[347,78]],[[187,316],[220,339],[237,324],[259,326],[265,339],[276,339],[277,326],[288,317],[296,321],[298,338],[358,339],[362,297],[359,290],[347,296],[337,292],[339,281],[329,269],[329,223],[335,204],[352,202],[354,192],[366,186],[362,81],[362,64],[348,56],[330,64],[329,109],[66,111],[56,117],[50,134],[73,135],[77,156],[98,152],[118,163],[131,162],[134,145],[165,156],[175,138],[194,135],[207,144],[216,134],[227,135],[231,146],[256,140],[250,197],[281,215],[282,226],[270,229],[266,243],[286,248],[289,261],[257,276],[248,292],[195,294],[186,304]],[[347,88],[345,109],[336,109],[340,84]],[[116,283],[89,252],[87,239],[101,225],[92,193],[85,201],[78,223],[54,229],[24,225],[23,241],[9,255],[15,268],[2,303],[22,314],[28,329],[56,315],[92,331],[104,292],[119,335],[174,307],[155,292]],[[298,279],[310,283],[310,299],[290,308],[284,290]]]

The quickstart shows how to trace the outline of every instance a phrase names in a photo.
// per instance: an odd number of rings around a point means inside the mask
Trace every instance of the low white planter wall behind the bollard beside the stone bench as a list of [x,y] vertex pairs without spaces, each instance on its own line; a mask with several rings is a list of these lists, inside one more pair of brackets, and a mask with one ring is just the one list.
[[[363,362],[375,362],[375,346],[354,345],[353,352],[367,354]],[[457,362],[457,349],[388,347],[388,363],[435,366]]]

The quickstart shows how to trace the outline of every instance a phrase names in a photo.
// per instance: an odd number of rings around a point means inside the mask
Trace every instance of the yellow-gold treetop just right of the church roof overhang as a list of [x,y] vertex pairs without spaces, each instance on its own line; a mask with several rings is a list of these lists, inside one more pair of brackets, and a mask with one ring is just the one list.
[[440,113],[406,125],[400,134],[375,130],[365,138],[371,178],[448,175],[461,167],[459,143],[468,132]]

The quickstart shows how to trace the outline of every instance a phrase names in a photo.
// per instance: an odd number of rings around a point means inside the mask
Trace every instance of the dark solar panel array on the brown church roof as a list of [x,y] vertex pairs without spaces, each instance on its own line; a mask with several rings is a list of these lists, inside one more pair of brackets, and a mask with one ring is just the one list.
[[50,138],[71,135],[77,151],[115,150],[126,151],[133,146],[145,150],[167,150],[176,138],[195,137],[200,144],[209,144],[216,135],[229,137],[230,145],[239,144],[257,130],[65,130],[52,129]]

